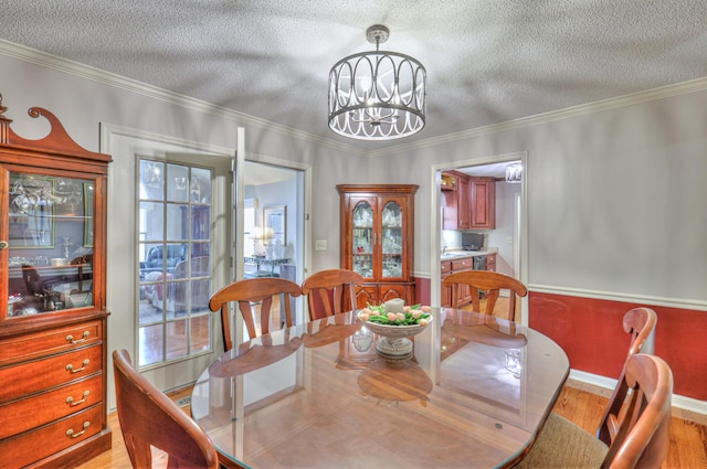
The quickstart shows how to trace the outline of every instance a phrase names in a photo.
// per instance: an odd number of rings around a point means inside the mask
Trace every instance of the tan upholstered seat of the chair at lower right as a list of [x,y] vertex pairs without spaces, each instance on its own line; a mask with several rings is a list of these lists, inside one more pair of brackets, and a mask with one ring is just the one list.
[[515,468],[595,469],[608,451],[609,447],[594,435],[551,413],[530,452]]

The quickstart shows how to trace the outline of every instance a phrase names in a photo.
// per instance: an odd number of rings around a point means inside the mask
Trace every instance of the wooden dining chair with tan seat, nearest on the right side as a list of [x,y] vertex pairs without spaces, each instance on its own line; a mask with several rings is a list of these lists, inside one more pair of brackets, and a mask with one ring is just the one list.
[[[516,468],[658,468],[669,446],[673,373],[658,356],[629,355],[623,380],[631,393],[618,403],[622,418],[606,445],[571,422],[553,419]],[[610,403],[610,407],[614,405]],[[550,424],[548,420],[547,425]]]

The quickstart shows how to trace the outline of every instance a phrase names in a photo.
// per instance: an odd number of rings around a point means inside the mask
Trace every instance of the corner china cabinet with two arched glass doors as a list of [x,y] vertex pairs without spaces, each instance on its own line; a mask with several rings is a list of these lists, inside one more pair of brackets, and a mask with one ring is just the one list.
[[414,184],[341,184],[341,268],[366,279],[357,303],[414,301]]

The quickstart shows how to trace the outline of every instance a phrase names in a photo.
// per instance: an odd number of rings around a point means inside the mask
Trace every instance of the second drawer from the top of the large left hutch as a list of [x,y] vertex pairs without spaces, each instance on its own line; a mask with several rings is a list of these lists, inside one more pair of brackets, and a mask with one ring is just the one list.
[[31,395],[103,370],[103,348],[96,344],[44,360],[0,369],[0,402]]

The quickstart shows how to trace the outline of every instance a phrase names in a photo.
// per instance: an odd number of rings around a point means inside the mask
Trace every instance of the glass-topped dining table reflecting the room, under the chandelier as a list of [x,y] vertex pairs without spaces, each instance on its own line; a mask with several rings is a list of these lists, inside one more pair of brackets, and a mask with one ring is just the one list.
[[191,413],[226,467],[492,468],[523,459],[569,373],[541,333],[432,308],[412,356],[377,352],[347,312],[234,347]]

